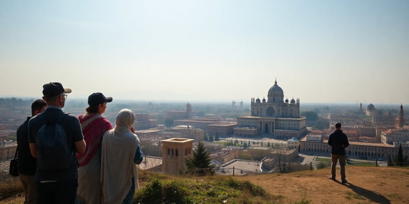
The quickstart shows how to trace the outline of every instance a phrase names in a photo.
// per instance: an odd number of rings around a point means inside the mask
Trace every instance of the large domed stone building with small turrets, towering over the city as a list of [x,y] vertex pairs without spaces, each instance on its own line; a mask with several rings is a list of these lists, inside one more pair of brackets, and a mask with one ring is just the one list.
[[252,98],[251,114],[237,117],[234,135],[254,137],[265,135],[269,138],[301,138],[307,134],[305,117],[300,117],[300,99],[284,100],[283,89],[274,85],[265,98]]

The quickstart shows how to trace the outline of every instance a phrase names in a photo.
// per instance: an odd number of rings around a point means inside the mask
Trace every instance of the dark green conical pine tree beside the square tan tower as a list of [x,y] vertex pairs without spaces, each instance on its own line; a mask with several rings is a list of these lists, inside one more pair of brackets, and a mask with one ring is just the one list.
[[193,151],[193,157],[185,159],[186,170],[197,175],[213,175],[216,165],[210,165],[210,161],[210,152],[206,151],[205,144],[199,142]]

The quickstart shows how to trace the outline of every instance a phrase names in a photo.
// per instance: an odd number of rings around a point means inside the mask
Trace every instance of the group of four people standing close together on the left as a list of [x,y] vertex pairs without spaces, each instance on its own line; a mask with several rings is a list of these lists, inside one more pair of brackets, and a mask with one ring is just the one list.
[[65,113],[61,83],[43,85],[42,99],[17,130],[17,169],[25,203],[132,203],[143,154],[135,114],[122,109],[115,127],[102,116],[112,97],[93,93],[85,113]]

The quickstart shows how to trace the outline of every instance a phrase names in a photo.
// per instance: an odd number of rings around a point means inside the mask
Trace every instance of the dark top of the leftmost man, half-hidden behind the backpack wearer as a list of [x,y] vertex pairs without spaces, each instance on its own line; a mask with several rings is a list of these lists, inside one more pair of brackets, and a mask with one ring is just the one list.
[[17,144],[18,144],[18,161],[17,170],[24,175],[34,175],[37,168],[37,159],[31,156],[29,146],[28,126],[31,117],[27,117],[24,122],[17,129]]

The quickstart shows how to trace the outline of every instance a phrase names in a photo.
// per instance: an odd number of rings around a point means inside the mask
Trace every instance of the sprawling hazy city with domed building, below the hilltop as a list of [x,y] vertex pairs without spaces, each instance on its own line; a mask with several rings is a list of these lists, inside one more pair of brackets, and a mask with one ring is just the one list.
[[[316,169],[313,158],[330,156],[328,135],[336,122],[343,124],[350,141],[349,159],[386,164],[397,157],[399,146],[409,155],[409,118],[403,105],[302,104],[302,98],[284,97],[277,80],[265,92],[263,98],[207,104],[114,98],[103,115],[115,125],[119,110],[133,110],[145,155],[139,168],[169,174],[183,169],[199,141],[218,174]],[[30,115],[34,99],[0,98],[1,161],[14,157],[17,127]],[[79,115],[86,106],[85,99],[68,99],[64,111]]]

